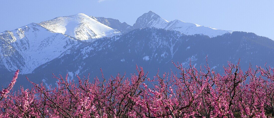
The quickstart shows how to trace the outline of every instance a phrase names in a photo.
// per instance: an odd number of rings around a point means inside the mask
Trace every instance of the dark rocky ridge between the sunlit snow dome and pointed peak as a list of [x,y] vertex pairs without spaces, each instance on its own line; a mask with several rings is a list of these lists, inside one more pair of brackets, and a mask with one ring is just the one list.
[[105,18],[105,17],[94,17],[94,16],[90,16],[92,17],[94,20],[99,21],[100,23],[109,26],[113,29],[117,29],[119,30],[121,33],[128,33],[131,30],[134,30],[133,26],[130,26],[127,23],[121,23],[119,20],[117,19],[113,19],[113,18]]

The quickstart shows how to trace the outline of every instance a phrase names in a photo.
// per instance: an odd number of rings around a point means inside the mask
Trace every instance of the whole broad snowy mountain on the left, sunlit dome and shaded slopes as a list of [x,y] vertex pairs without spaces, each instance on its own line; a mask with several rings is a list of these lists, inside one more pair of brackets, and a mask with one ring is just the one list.
[[[85,14],[57,17],[0,33],[0,68],[32,73],[38,66],[70,53],[85,42],[121,35]],[[67,51],[67,52],[66,52]]]

